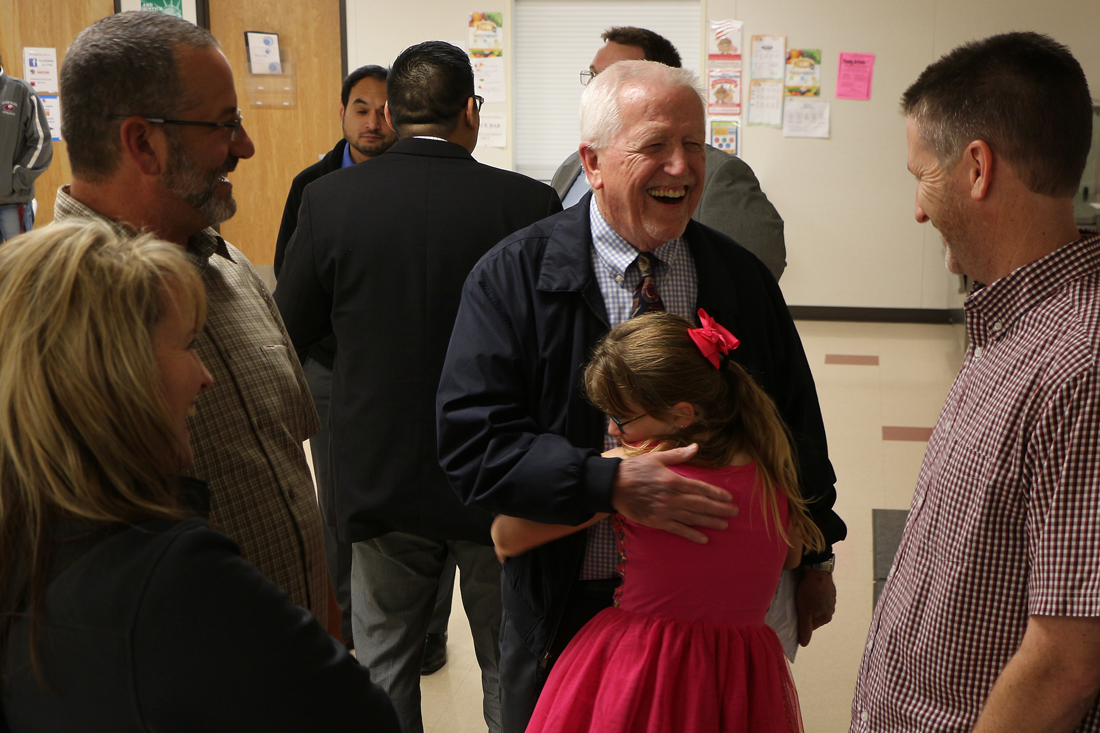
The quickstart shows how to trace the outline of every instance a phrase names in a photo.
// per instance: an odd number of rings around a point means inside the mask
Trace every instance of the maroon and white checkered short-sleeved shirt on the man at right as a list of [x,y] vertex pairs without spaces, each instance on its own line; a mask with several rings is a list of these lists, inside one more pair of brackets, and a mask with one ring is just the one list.
[[[969,731],[1031,615],[1100,615],[1100,236],[974,293],[851,731]],[[1100,732],[1100,704],[1078,731]]]

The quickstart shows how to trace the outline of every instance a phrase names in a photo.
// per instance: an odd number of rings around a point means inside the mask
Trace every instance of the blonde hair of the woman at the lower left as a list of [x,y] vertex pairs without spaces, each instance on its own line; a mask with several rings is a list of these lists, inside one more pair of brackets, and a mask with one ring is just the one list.
[[169,297],[201,324],[197,271],[150,236],[58,223],[0,244],[0,643],[28,610],[33,637],[58,519],[185,514],[153,350]]

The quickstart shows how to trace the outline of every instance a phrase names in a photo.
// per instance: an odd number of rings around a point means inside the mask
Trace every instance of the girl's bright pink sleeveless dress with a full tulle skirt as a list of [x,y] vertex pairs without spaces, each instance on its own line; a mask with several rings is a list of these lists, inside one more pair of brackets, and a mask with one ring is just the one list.
[[755,464],[672,470],[729,491],[738,516],[703,529],[706,545],[615,516],[616,606],[565,647],[527,733],[802,731],[782,645],[763,621],[787,545],[765,522]]

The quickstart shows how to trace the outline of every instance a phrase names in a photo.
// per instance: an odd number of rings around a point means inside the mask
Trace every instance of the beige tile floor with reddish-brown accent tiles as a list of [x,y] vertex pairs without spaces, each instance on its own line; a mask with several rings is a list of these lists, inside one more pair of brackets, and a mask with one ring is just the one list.
[[[836,616],[800,650],[793,669],[806,733],[843,733],[871,619],[871,512],[909,508],[924,440],[961,363],[965,337],[960,326],[798,327],[817,382],[848,539],[836,546]],[[421,678],[425,731],[485,731],[481,674],[458,591],[449,652],[446,667]]]

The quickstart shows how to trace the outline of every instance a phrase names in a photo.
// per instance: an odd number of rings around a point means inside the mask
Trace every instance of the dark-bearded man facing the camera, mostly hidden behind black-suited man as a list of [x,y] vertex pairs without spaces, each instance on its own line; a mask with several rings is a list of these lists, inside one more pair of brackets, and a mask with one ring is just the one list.
[[[340,89],[340,125],[344,136],[317,163],[294,177],[283,208],[283,222],[275,241],[275,277],[283,270],[286,244],[298,227],[298,207],[306,186],[333,171],[363,163],[382,155],[397,142],[397,133],[386,122],[386,75],[383,66],[360,66],[349,74]],[[314,456],[314,475],[321,505],[324,528],[324,558],[329,561],[329,578],[340,603],[340,631],[349,648],[354,648],[351,635],[351,545],[340,541],[336,532],[336,496],[329,474],[329,396],[332,392],[332,357],[337,351],[336,336],[329,336],[299,353],[306,372],[314,406],[321,428],[309,439]],[[453,586],[453,579],[452,579]],[[447,597],[450,610],[450,594]],[[446,628],[446,616],[444,625]],[[446,646],[444,646],[446,655]],[[446,659],[446,656],[444,656]]]

